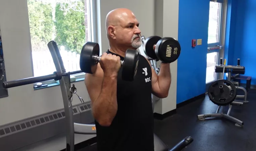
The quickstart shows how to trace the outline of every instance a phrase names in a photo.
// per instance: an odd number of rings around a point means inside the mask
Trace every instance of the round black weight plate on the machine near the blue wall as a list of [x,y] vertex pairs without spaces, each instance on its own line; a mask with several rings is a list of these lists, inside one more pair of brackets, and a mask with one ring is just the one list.
[[228,105],[236,99],[236,86],[227,80],[216,80],[209,86],[208,96],[214,104]]

